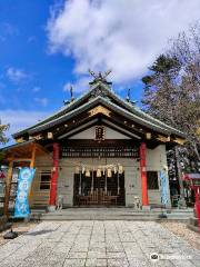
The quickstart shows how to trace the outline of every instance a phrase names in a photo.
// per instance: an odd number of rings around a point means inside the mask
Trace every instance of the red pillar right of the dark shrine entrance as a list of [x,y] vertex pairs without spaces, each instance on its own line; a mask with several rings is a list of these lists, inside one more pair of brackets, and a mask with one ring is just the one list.
[[141,188],[142,188],[142,206],[149,205],[148,188],[147,188],[146,154],[147,154],[146,142],[142,142],[140,146],[140,175],[141,175]]

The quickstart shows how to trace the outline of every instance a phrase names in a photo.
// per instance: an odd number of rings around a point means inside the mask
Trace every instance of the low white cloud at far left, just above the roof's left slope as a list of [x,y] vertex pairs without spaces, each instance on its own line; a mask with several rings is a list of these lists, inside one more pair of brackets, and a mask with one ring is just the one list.
[[[39,111],[11,109],[0,110],[1,123],[10,125],[10,129],[8,131],[9,138],[11,138],[12,134],[37,123],[39,120],[46,118],[47,116],[49,116],[49,113]],[[12,140],[10,140],[10,142]]]

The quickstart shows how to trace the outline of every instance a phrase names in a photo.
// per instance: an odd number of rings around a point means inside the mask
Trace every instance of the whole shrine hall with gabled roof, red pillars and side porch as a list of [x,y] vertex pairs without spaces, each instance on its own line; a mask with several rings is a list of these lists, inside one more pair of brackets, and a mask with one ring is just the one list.
[[36,168],[31,207],[52,210],[59,198],[63,207],[131,207],[134,198],[159,206],[163,176],[171,206],[167,149],[183,144],[184,135],[117,96],[108,73],[91,73],[86,93],[74,99],[71,91],[60,110],[14,134],[17,144],[3,148],[6,206],[13,169],[22,166]]

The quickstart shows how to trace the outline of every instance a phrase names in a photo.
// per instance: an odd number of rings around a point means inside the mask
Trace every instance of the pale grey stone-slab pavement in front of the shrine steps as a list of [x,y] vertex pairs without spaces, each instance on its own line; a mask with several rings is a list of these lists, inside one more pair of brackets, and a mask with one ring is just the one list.
[[0,266],[200,267],[200,250],[153,221],[43,221],[0,247]]

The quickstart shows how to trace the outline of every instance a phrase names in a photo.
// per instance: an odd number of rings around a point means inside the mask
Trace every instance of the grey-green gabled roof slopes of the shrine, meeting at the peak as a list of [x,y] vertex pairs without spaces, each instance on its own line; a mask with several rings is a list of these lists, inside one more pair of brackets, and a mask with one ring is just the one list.
[[89,91],[83,93],[81,97],[64,106],[59,111],[46,118],[44,120],[33,125],[30,128],[14,134],[13,137],[19,138],[24,134],[32,135],[41,130],[46,130],[97,105],[103,105],[111,110],[122,113],[126,118],[158,132],[184,137],[184,135],[178,129],[172,128],[158,119],[154,119],[134,105],[124,101],[113,92],[113,90],[110,88],[110,85],[102,81],[93,83],[90,87]]

